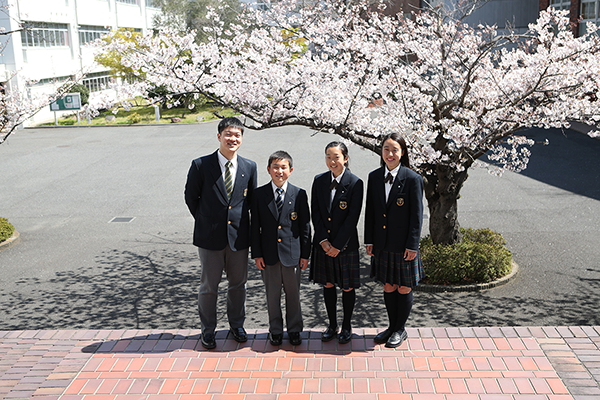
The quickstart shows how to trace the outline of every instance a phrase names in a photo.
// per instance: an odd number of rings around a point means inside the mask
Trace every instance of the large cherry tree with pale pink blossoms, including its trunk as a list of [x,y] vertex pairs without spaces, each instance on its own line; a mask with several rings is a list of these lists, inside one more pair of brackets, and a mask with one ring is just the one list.
[[533,143],[519,130],[600,117],[594,26],[576,38],[566,13],[548,9],[528,32],[500,34],[442,8],[410,19],[378,11],[357,1],[282,2],[227,28],[208,13],[203,43],[165,31],[102,50],[145,74],[137,90],[202,94],[254,129],[303,125],[374,152],[382,135],[404,133],[425,180],[434,243],[460,241],[457,199],[478,159],[522,170]]

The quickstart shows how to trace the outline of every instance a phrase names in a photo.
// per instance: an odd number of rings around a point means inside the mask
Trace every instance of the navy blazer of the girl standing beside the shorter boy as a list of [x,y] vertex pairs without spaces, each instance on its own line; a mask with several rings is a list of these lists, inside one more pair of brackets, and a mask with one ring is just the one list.
[[336,249],[358,250],[356,225],[363,202],[363,182],[348,169],[342,175],[335,197],[331,198],[331,172],[317,175],[311,192],[312,221],[315,228],[313,246],[329,240]]

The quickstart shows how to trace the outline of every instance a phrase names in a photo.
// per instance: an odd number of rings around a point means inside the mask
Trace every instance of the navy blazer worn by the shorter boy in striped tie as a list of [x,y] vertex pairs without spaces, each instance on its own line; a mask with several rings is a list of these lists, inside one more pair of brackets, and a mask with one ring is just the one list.
[[310,211],[306,191],[288,182],[281,215],[271,182],[256,189],[252,200],[252,258],[286,267],[310,256]]

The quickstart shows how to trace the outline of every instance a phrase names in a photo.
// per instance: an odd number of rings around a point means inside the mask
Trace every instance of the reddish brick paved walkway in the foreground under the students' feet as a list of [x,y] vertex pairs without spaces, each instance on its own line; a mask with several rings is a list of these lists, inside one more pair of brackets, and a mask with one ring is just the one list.
[[600,327],[420,328],[398,349],[355,329],[351,344],[272,347],[199,331],[0,332],[6,399],[600,399]]

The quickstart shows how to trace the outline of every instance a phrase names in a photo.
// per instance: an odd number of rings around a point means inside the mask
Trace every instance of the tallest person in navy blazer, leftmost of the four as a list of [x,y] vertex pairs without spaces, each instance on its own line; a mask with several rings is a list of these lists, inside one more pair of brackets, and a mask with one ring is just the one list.
[[234,117],[219,123],[219,149],[192,161],[185,185],[185,202],[195,219],[194,245],[202,274],[198,310],[202,345],[216,347],[217,291],[223,270],[227,274],[227,318],[238,342],[244,330],[250,207],[256,188],[256,163],[237,155],[244,126]]

